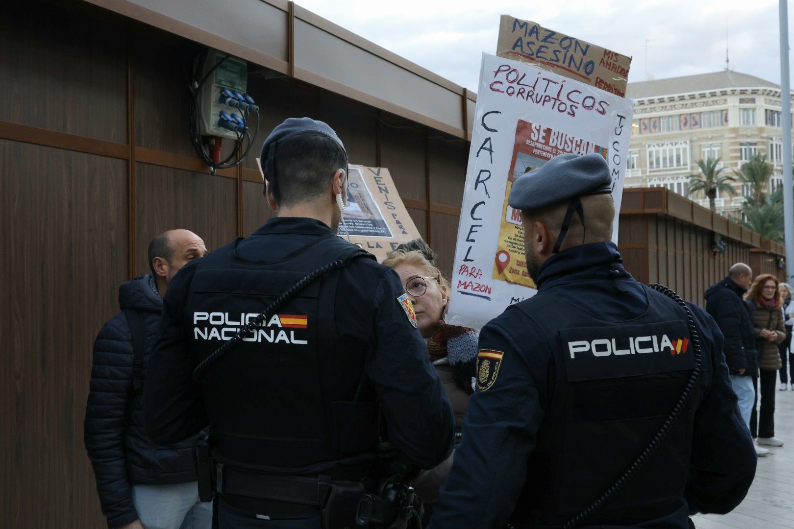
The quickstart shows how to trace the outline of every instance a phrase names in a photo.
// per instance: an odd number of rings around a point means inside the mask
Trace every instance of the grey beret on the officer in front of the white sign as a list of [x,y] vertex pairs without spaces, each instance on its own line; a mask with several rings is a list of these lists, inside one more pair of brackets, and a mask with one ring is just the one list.
[[603,156],[557,155],[542,167],[519,176],[507,197],[515,209],[538,209],[590,194],[612,192]]

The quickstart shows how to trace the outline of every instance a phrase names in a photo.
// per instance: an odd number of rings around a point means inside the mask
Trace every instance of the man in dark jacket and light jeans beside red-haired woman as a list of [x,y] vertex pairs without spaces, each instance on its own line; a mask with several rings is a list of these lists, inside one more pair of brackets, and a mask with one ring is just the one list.
[[[755,348],[755,331],[750,312],[742,297],[753,282],[753,270],[745,263],[736,263],[728,270],[727,278],[706,290],[706,312],[714,318],[723,332],[723,355],[730,374],[730,385],[738,397],[739,412],[747,428],[755,401],[754,378],[758,377],[758,353]],[[769,450],[755,447],[763,456]]]

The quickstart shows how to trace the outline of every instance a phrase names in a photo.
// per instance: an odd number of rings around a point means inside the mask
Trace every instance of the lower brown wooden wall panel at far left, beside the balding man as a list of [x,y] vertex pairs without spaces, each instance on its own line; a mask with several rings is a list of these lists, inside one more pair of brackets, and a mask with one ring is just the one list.
[[126,275],[126,165],[0,140],[0,176],[2,526],[104,527],[83,418]]

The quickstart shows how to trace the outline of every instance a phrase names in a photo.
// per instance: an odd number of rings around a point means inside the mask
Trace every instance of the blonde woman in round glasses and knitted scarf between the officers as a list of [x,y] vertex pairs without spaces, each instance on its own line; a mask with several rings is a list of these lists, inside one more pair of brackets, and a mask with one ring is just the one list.
[[[477,340],[472,328],[446,324],[444,314],[449,301],[449,282],[435,266],[435,252],[421,239],[401,244],[391,251],[384,265],[394,268],[414,304],[419,331],[427,342],[427,352],[455,413],[456,444],[468,410],[468,397],[474,393]],[[453,452],[454,455],[454,452]],[[433,512],[438,490],[452,468],[453,455],[432,470],[421,473],[412,485],[425,505],[426,517]]]

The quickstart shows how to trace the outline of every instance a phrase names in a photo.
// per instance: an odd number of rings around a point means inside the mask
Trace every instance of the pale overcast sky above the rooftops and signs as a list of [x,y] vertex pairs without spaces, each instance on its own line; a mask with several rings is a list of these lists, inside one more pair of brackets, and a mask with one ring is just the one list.
[[731,69],[777,83],[781,79],[775,0],[297,3],[475,91],[480,54],[495,52],[502,13],[632,56],[629,82],[723,70],[726,41]]

